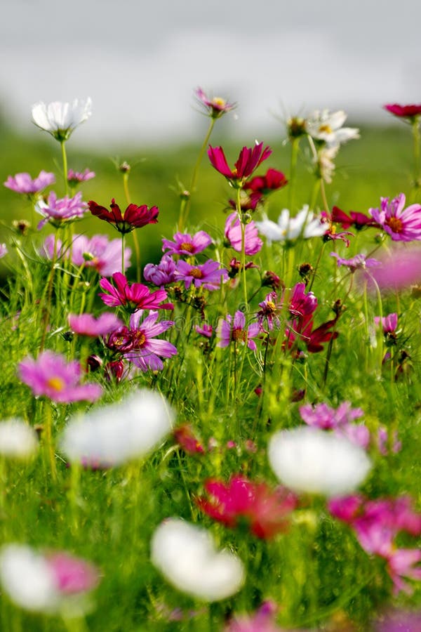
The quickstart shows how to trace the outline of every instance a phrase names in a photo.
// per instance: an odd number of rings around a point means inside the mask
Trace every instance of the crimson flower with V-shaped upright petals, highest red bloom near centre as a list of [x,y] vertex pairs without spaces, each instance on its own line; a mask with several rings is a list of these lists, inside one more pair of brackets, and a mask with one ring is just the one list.
[[208,149],[210,164],[216,171],[222,173],[222,176],[225,176],[235,188],[242,187],[246,178],[251,176],[253,171],[269,158],[270,154],[272,154],[272,150],[269,147],[263,149],[263,143],[256,143],[254,147],[243,147],[234,164],[234,169],[230,169],[222,147],[209,145]]

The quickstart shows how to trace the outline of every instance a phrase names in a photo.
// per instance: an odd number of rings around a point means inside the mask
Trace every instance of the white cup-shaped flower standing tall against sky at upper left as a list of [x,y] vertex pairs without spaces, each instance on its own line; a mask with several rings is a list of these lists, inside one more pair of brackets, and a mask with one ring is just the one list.
[[67,140],[78,125],[92,114],[91,98],[74,99],[73,103],[54,101],[46,105],[42,101],[32,106],[34,124],[63,142]]

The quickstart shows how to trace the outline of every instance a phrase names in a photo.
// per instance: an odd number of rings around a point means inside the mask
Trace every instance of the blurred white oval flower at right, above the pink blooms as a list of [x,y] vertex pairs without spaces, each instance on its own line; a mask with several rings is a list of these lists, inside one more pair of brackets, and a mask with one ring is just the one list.
[[282,430],[269,441],[269,463],[284,485],[295,492],[342,496],[366,478],[371,461],[345,437],[319,428]]

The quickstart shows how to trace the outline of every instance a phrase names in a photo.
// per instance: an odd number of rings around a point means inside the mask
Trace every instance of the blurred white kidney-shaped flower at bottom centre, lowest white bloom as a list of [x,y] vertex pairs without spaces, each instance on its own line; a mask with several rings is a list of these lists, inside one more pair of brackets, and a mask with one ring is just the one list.
[[234,553],[215,551],[212,537],[180,518],[162,522],[152,537],[152,562],[180,591],[206,601],[238,592],[243,564]]

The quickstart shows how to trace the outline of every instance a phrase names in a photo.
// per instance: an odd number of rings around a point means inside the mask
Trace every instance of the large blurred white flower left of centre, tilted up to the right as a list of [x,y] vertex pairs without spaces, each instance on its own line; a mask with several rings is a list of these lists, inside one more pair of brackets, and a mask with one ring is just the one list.
[[138,390],[121,402],[71,419],[60,446],[71,462],[117,466],[159,444],[170,432],[173,416],[164,397]]

